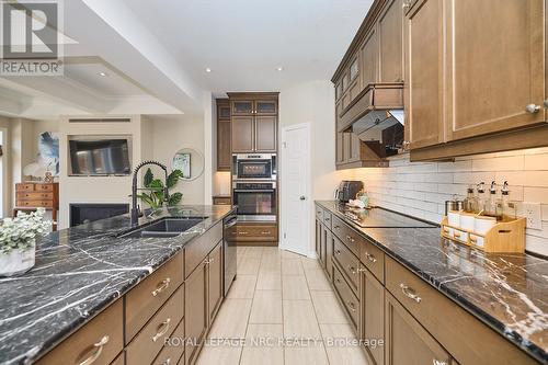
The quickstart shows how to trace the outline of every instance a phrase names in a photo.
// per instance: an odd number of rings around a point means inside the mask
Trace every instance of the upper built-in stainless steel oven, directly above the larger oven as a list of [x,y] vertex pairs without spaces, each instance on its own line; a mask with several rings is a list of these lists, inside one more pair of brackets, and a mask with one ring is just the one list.
[[232,155],[232,179],[276,180],[276,153]]

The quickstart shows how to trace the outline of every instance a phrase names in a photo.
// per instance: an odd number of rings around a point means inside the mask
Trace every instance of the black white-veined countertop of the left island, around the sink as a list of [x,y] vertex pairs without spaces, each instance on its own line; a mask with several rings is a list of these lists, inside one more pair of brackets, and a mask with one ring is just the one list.
[[0,278],[0,364],[32,363],[232,209],[180,206],[139,219],[207,217],[174,238],[116,238],[132,228],[128,215],[48,235],[30,272]]

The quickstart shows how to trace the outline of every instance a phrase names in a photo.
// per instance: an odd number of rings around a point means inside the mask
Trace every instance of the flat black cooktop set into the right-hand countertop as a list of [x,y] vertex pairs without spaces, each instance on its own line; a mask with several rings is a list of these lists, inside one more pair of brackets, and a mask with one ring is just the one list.
[[362,228],[434,228],[434,224],[379,207],[355,209],[339,205],[338,210]]

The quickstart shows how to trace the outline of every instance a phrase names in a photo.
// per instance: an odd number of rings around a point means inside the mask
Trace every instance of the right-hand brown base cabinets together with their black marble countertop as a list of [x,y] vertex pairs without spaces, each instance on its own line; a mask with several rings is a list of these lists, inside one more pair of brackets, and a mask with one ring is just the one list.
[[[529,254],[483,253],[441,238],[438,227],[364,228],[336,202],[316,202],[316,208],[317,232],[318,225],[324,227],[320,228],[320,232],[322,229],[327,232],[322,237],[331,237],[334,243],[335,290],[339,280],[341,293],[351,293],[352,275],[363,275],[354,280],[361,282],[355,290],[355,300],[362,304],[356,321],[357,334],[368,337],[374,328],[378,330],[376,334],[387,339],[388,349],[383,354],[372,353],[372,357],[385,358],[388,364],[398,363],[395,361],[398,351],[412,343],[409,340],[402,345],[393,340],[400,326],[395,318],[404,318],[403,322],[414,323],[410,328],[416,330],[421,341],[429,343],[425,349],[431,346],[441,363],[456,360],[460,364],[471,364],[475,358],[491,364],[494,363],[491,354],[496,353],[499,356],[507,354],[505,362],[509,364],[527,360],[548,363],[547,260]],[[376,221],[375,218],[381,215],[375,212],[370,215],[377,226],[393,225]],[[367,217],[363,219],[366,221]],[[349,252],[354,243],[355,251]],[[342,249],[336,252],[338,248]],[[362,262],[359,270],[347,269],[355,267],[355,264],[345,265],[352,260]],[[374,289],[378,292],[372,292]],[[384,298],[384,305],[369,303],[370,293],[380,293],[378,297]],[[352,298],[352,293],[347,297]],[[372,316],[367,308],[377,308],[374,313],[377,317],[386,316],[383,326],[367,323]],[[418,343],[414,344],[416,352],[420,351]],[[412,349],[404,350],[408,361],[412,362]],[[448,357],[442,360],[443,356]],[[520,362],[515,362],[517,360]]]

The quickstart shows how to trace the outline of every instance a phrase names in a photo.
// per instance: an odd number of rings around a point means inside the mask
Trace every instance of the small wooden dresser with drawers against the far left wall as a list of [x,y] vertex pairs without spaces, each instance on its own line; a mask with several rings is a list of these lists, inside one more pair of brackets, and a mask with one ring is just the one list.
[[52,212],[53,229],[57,229],[57,213],[59,212],[59,183],[24,182],[15,184],[15,207],[18,212],[34,212],[45,208]]

